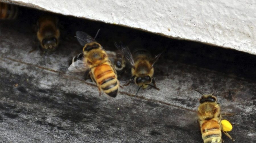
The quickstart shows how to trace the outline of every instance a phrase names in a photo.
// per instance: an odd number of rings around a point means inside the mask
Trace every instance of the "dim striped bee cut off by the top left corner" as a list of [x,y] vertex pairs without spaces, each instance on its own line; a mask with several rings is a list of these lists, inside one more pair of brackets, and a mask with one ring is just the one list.
[[0,19],[16,19],[18,6],[0,2]]

